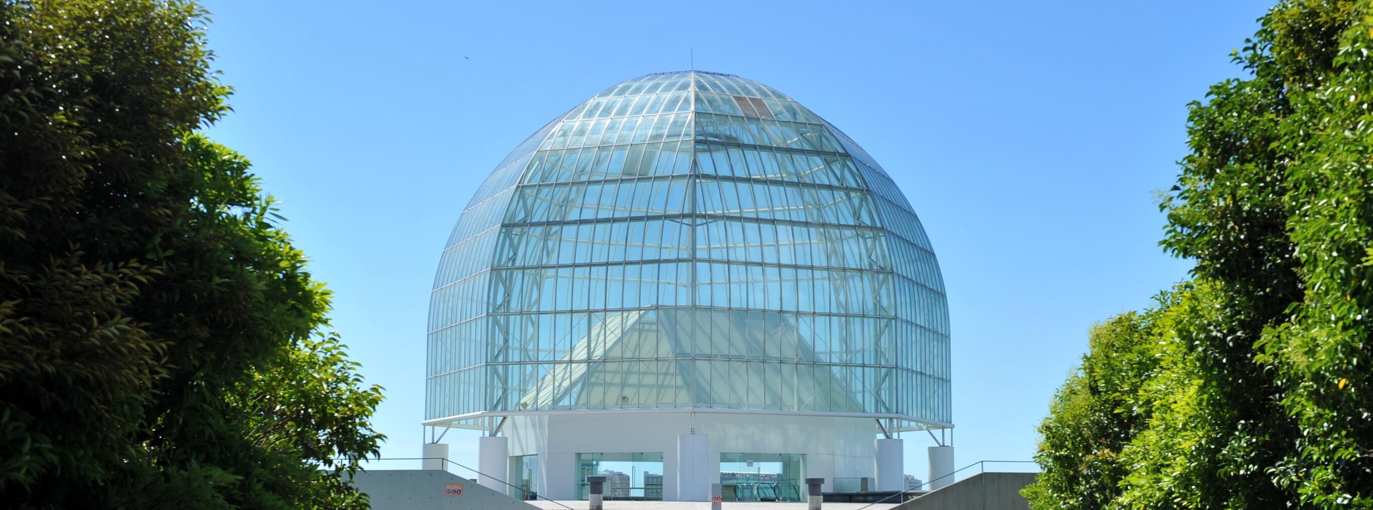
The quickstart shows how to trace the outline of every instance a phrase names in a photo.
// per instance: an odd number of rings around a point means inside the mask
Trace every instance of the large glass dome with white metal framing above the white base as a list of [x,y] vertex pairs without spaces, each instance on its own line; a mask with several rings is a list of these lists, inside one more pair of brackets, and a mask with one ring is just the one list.
[[426,424],[728,409],[950,424],[943,278],[853,140],[728,74],[605,89],[515,148],[453,228]]

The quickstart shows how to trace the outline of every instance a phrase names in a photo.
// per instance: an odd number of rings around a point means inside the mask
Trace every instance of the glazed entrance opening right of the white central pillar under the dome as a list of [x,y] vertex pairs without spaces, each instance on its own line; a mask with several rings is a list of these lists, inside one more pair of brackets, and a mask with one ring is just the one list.
[[726,502],[799,502],[800,454],[719,454]]

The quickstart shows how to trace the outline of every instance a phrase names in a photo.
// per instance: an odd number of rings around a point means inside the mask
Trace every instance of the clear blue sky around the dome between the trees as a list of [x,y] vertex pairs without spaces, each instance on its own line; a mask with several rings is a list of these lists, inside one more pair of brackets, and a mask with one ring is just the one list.
[[[335,329],[386,387],[383,455],[417,457],[430,287],[476,185],[555,115],[693,51],[892,175],[949,292],[956,465],[1030,459],[1092,324],[1186,277],[1152,193],[1186,154],[1186,103],[1241,74],[1229,52],[1270,1],[210,0],[236,88],[210,136],[281,202]],[[450,432],[452,458],[475,467],[475,437]],[[905,437],[924,478],[932,443]]]

